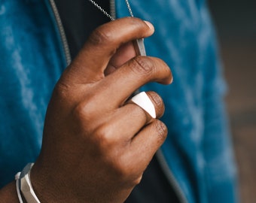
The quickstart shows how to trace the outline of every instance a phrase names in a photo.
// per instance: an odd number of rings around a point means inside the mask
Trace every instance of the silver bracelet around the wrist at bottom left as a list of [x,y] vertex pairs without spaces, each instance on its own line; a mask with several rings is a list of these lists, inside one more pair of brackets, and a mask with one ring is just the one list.
[[21,173],[17,173],[16,186],[17,186],[17,194],[20,200],[20,203],[23,203],[20,192],[23,195],[23,198],[27,203],[40,203],[38,197],[35,195],[34,189],[32,187],[32,183],[30,181],[30,170],[34,163],[29,163],[23,168]]

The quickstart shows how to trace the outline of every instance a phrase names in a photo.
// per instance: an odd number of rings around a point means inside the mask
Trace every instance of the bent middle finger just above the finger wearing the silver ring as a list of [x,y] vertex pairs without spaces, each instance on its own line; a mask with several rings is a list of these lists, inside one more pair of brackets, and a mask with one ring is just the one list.
[[[99,82],[99,101],[108,102],[117,108],[123,105],[126,98],[129,98],[136,89],[152,81],[171,83],[172,72],[168,65],[157,58],[136,56]],[[102,89],[102,86],[108,88]]]

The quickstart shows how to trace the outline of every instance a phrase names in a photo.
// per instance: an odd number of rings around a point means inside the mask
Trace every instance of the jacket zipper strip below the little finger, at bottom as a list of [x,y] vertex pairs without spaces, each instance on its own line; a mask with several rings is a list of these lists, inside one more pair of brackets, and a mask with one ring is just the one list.
[[160,164],[160,167],[163,169],[163,174],[166,176],[167,180],[169,181],[172,189],[176,193],[180,203],[187,203],[187,198],[185,197],[184,193],[181,190],[181,187],[178,185],[177,180],[175,180],[172,171],[169,169],[169,166],[166,162],[166,159],[163,156],[163,152],[158,150],[156,153],[157,160]]

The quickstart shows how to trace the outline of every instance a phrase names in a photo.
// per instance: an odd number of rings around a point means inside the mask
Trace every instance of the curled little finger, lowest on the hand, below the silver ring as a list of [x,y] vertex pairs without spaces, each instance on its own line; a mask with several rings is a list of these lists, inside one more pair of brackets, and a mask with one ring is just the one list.
[[167,136],[167,128],[160,120],[145,126],[130,143],[126,153],[126,160],[133,160],[136,170],[145,171],[154,153],[160,148]]

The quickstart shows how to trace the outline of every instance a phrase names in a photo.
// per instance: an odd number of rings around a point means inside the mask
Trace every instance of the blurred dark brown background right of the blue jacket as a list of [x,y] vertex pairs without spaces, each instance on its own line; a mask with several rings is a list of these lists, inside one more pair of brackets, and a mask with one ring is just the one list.
[[209,0],[229,91],[242,203],[256,202],[256,1]]

